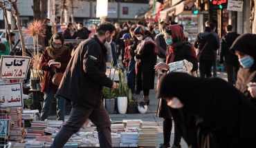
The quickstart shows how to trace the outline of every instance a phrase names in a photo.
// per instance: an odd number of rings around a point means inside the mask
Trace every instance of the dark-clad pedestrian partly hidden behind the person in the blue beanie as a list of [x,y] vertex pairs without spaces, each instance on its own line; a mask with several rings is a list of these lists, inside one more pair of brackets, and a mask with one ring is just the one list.
[[[117,57],[119,57],[119,55],[121,54],[120,52],[122,51],[122,61],[124,61],[124,56],[125,56],[125,43],[124,41],[122,41],[122,36],[124,34],[129,34],[129,28],[127,23],[122,24],[122,28],[123,30],[119,33],[119,37],[118,37],[118,41],[117,41],[117,47],[118,47],[118,54]],[[125,66],[125,63],[122,63],[122,65]]]

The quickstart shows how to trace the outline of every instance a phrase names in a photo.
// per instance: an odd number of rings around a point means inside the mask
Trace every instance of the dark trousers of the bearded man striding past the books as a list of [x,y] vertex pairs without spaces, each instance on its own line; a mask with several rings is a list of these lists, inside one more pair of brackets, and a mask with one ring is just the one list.
[[100,147],[112,147],[111,142],[111,123],[109,114],[101,103],[98,109],[89,109],[78,103],[71,101],[71,115],[66,124],[60,129],[59,133],[51,145],[51,148],[63,147],[69,138],[75,134],[84,125],[87,118],[97,126],[99,134]]

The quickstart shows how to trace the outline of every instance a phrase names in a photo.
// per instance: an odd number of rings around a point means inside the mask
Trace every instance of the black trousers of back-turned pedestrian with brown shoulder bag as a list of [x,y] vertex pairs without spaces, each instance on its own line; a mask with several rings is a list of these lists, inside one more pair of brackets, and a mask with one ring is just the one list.
[[199,62],[199,71],[200,71],[200,77],[201,78],[210,78],[212,77],[212,61],[208,60],[200,60]]

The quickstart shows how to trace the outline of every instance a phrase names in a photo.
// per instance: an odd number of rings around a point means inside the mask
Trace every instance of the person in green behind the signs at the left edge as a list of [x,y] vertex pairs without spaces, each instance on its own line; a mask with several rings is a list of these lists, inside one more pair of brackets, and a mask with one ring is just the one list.
[[6,33],[6,41],[0,43],[0,59],[2,55],[10,54],[10,44],[15,45],[15,33],[10,32],[10,41],[9,41],[9,33]]

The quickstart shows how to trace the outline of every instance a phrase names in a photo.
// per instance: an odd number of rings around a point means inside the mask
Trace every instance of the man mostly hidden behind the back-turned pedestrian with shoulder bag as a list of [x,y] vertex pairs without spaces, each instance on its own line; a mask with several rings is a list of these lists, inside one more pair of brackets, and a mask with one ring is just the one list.
[[[209,23],[209,27],[211,28],[211,33],[215,36],[216,40],[217,40],[217,43],[218,43],[218,49],[219,49],[219,34],[217,34],[216,32],[214,32],[214,30],[216,30],[216,27],[215,27],[215,24],[214,23]],[[212,73],[213,73],[213,77],[216,77],[217,76],[217,52],[218,50],[214,50],[213,53],[214,53],[214,59],[213,59],[213,63],[212,63]]]

